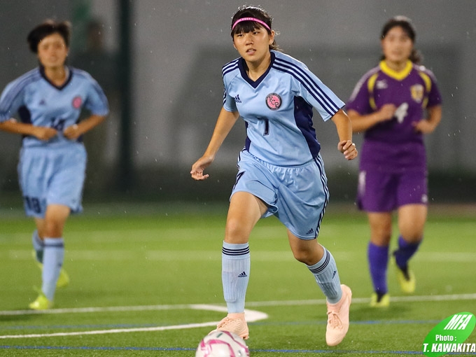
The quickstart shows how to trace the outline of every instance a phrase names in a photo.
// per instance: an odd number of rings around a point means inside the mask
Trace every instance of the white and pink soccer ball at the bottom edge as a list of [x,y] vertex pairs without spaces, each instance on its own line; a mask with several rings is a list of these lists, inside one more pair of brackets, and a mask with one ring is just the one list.
[[249,357],[244,340],[228,331],[211,331],[197,347],[195,357]]

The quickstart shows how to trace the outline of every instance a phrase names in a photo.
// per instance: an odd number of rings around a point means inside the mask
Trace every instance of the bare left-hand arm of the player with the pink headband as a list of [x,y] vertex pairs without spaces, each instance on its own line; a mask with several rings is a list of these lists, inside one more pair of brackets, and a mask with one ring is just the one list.
[[237,111],[226,111],[223,108],[221,109],[207,151],[205,151],[202,158],[198,159],[195,164],[192,165],[192,170],[190,171],[192,179],[197,181],[208,179],[209,175],[203,174],[204,169],[214,162],[218,149],[221,147],[221,144],[223,144],[223,141],[230,133],[230,130],[232,130],[232,127],[235,125],[238,118],[239,113]]

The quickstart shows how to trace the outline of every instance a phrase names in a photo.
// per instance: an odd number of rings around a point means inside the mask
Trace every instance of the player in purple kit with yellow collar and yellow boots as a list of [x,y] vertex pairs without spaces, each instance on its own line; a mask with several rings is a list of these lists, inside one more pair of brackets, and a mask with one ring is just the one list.
[[441,97],[433,73],[419,65],[415,30],[404,16],[386,22],[383,57],[356,85],[346,110],[353,132],[365,132],[357,204],[370,224],[367,248],[374,287],[370,305],[387,307],[386,270],[392,212],[398,211],[398,248],[393,252],[400,288],[415,290],[408,261],[421,244],[427,216],[427,169],[423,134],[441,120]]

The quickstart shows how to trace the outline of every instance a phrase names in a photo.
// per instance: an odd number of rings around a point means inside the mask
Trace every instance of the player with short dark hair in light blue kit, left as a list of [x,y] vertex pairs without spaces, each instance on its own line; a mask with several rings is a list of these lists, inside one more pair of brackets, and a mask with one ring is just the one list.
[[[82,210],[86,151],[82,136],[102,123],[108,102],[85,71],[66,66],[68,22],[43,22],[27,41],[39,66],[9,83],[0,97],[0,130],[22,135],[18,176],[27,216],[34,217],[33,246],[42,268],[41,292],[31,309],[52,307],[62,269],[63,228],[71,212]],[[91,116],[78,123],[80,111]],[[13,117],[18,113],[20,121]]]

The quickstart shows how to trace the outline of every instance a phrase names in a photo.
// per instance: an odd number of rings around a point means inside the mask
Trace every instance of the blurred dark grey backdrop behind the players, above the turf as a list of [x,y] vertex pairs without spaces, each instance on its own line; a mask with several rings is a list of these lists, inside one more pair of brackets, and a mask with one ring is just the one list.
[[[104,88],[111,115],[85,137],[85,201],[228,200],[244,145],[239,121],[209,169],[190,179],[222,105],[221,66],[237,57],[230,21],[243,1],[2,0],[0,87],[37,66],[29,31],[46,18],[69,20],[69,64]],[[407,15],[416,48],[438,81],[443,118],[426,138],[430,202],[475,202],[476,2],[473,0],[260,0],[274,17],[276,42],[344,102],[379,62],[384,22]],[[337,133],[315,113],[331,200],[353,203],[358,162],[337,151]],[[361,142],[355,134],[357,144]],[[0,207],[20,202],[20,137],[0,132]],[[9,197],[15,197],[10,199]],[[15,201],[16,200],[16,201]]]

